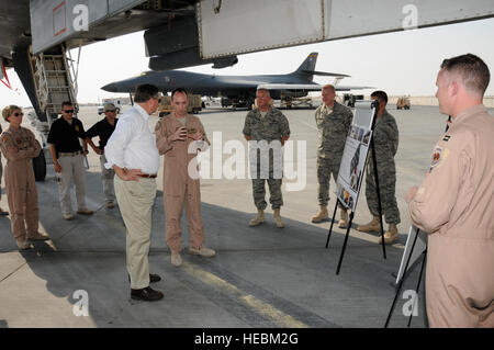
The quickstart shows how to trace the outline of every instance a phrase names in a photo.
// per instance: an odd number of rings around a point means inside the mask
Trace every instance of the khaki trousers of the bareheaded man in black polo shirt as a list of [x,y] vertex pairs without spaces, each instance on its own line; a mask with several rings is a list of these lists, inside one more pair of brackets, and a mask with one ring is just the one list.
[[70,188],[72,181],[76,184],[76,199],[78,211],[87,210],[86,206],[86,170],[85,157],[79,154],[77,156],[61,156],[58,163],[61,167],[61,173],[58,178],[58,193],[60,197],[60,207],[63,214],[72,213],[72,204],[70,202]]

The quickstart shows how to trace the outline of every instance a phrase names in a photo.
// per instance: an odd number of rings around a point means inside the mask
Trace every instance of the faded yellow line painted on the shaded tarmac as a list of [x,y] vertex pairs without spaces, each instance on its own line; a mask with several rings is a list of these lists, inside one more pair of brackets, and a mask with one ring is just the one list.
[[283,328],[308,328],[307,325],[295,319],[293,316],[287,315],[285,313],[273,307],[272,305],[256,298],[254,295],[240,291],[235,285],[226,282],[225,280],[218,278],[217,275],[211,272],[204,271],[186,261],[183,261],[182,267],[186,270],[186,272],[189,273],[190,275],[197,278],[203,283],[206,283],[218,290],[222,290],[223,292],[233,294],[244,305],[252,308],[256,313],[272,319],[274,323],[277,323]]

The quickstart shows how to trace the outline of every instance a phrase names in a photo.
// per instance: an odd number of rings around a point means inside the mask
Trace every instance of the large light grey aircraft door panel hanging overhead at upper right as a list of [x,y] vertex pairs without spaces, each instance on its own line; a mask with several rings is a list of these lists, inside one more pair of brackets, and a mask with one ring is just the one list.
[[494,16],[492,0],[201,0],[203,59]]

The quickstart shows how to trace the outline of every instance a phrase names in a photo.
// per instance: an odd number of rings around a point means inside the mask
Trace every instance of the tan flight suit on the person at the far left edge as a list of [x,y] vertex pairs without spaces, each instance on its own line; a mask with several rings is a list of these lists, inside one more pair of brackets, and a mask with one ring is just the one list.
[[12,233],[15,239],[26,240],[38,228],[32,158],[40,155],[41,146],[31,131],[9,126],[0,136],[0,148],[7,158],[4,179]]

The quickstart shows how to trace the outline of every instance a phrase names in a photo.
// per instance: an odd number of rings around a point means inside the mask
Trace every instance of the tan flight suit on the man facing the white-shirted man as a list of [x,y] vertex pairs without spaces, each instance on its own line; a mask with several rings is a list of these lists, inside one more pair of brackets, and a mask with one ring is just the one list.
[[[204,140],[210,144],[204,126],[201,121],[191,114],[186,115],[186,127],[188,134],[203,133]],[[164,165],[164,201],[165,201],[165,236],[171,252],[180,252],[180,217],[183,202],[186,202],[186,213],[189,221],[190,246],[201,248],[204,242],[204,227],[201,218],[201,191],[199,179],[189,177],[189,162],[197,154],[189,154],[189,145],[193,142],[187,140],[168,142],[178,128],[183,124],[173,113],[162,117],[156,124],[156,146],[159,154],[165,155]]]

